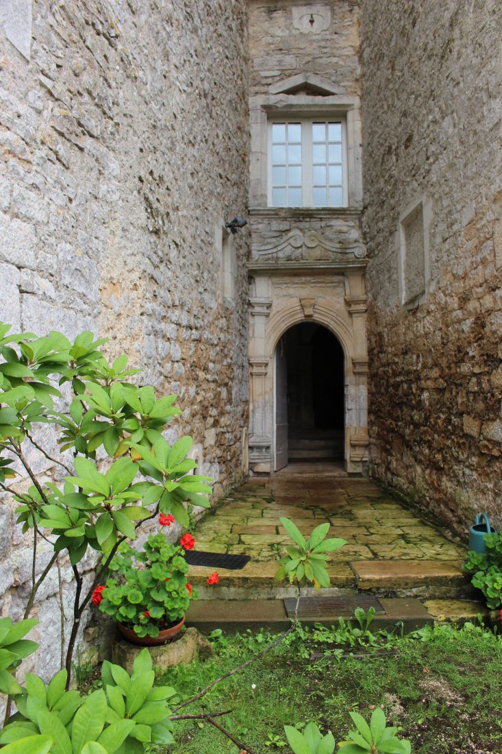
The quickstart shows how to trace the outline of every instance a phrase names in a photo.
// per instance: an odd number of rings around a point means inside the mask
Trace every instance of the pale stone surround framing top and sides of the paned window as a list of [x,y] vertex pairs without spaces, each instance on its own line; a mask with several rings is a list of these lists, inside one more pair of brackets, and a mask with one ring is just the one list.
[[347,124],[347,207],[362,209],[360,98],[265,94],[249,98],[251,160],[249,206],[268,207],[268,118],[343,118]]

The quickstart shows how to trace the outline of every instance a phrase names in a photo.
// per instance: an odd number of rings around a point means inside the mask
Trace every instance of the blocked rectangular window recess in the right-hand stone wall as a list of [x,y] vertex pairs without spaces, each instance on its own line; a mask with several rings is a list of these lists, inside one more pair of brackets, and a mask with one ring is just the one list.
[[424,302],[429,279],[430,208],[424,200],[406,207],[399,218],[399,299],[408,309]]

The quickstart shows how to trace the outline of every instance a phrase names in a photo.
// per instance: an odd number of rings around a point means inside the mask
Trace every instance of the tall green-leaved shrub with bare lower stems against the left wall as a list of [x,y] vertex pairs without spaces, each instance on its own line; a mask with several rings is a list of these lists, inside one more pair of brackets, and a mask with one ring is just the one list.
[[[188,529],[191,506],[210,506],[210,479],[191,474],[197,466],[187,458],[191,437],[173,446],[163,437],[167,423],[181,413],[176,396],[157,398],[153,388],[130,382],[138,370],[127,368],[127,356],[109,364],[99,350],[105,341],[92,333],[70,342],[54,331],[37,337],[9,330],[0,323],[0,490],[19,503],[23,532],[34,530],[33,575],[38,538],[54,544],[49,569],[57,553],[69,554],[77,581],[66,655],[70,673],[81,615],[118,545],[134,539],[142,522],[159,511]],[[67,410],[57,410],[54,399],[63,398],[63,385]],[[61,453],[51,455],[52,449],[38,444],[34,430],[41,424],[54,426]],[[62,483],[38,482],[26,452],[29,443],[59,467]],[[17,474],[15,462],[32,480],[26,492],[9,486]],[[89,547],[104,559],[86,592],[78,564]],[[46,575],[32,578],[28,613]]]

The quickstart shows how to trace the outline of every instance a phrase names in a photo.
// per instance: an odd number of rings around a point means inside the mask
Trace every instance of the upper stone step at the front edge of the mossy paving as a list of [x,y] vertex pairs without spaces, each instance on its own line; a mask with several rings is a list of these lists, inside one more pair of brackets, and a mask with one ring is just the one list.
[[[461,563],[461,560],[410,559],[333,562],[328,565],[332,586],[323,590],[323,594],[336,595],[357,589],[384,597],[469,599],[473,587],[469,576],[462,572]],[[238,571],[220,569],[219,584],[208,586],[207,578],[216,570],[191,566],[191,584],[203,599],[273,599],[295,595],[295,587],[274,581],[275,560],[251,560]]]

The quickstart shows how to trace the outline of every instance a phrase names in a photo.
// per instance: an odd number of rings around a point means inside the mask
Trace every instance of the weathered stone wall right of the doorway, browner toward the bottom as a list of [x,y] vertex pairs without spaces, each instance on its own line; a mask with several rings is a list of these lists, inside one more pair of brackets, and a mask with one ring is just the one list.
[[[502,493],[502,47],[495,0],[363,0],[371,473],[465,532]],[[399,217],[430,214],[399,303]],[[428,269],[427,269],[428,267]]]

